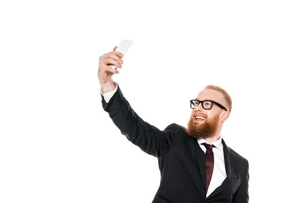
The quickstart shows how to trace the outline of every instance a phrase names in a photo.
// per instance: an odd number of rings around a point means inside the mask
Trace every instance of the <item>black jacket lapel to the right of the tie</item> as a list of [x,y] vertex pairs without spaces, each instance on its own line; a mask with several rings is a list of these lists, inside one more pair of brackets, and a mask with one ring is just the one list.
[[[225,178],[223,183],[218,188],[216,188],[206,198],[206,200],[216,196],[217,194],[222,192],[224,189],[226,189],[230,185],[230,182],[231,182],[232,177],[233,177],[233,173],[234,173],[234,155],[231,152],[231,150],[228,148],[228,146],[226,145],[224,139],[222,139],[222,144],[223,144],[223,147],[224,147],[223,149],[224,149],[224,159],[225,159],[225,167],[226,167],[227,178]],[[204,182],[204,185],[205,185],[205,182]]]

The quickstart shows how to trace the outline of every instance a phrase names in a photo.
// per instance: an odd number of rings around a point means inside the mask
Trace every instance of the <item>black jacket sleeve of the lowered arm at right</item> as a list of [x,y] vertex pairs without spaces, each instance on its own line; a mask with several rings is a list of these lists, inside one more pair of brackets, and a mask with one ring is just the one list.
[[241,185],[239,186],[237,192],[233,197],[232,203],[248,203],[249,202],[249,162],[247,160],[245,175],[241,180]]

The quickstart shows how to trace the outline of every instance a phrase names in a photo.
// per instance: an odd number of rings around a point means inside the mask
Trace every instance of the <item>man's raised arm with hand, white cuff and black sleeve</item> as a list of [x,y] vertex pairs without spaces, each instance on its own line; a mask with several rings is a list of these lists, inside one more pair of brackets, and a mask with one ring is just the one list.
[[[121,68],[119,62],[123,63],[121,61],[121,56],[123,55],[120,54],[112,51],[100,57],[98,76],[104,93],[115,89],[112,75],[118,74],[118,71],[107,64],[114,64]],[[102,104],[103,109],[109,113],[109,117],[121,133],[147,154],[160,157],[175,145],[179,135],[178,126],[171,124],[165,130],[159,130],[157,127],[143,121],[131,108],[119,87],[109,102],[106,102],[102,95]]]

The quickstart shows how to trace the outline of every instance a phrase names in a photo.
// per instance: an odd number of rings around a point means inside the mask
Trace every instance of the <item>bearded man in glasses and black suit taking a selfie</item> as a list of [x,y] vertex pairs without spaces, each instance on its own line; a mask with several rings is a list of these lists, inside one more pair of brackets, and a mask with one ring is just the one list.
[[249,202],[249,163],[221,137],[232,101],[218,86],[206,86],[190,100],[188,128],[172,123],[159,130],[143,121],[113,82],[123,54],[115,51],[100,57],[98,77],[103,109],[129,141],[147,154],[158,157],[160,187],[153,203]]

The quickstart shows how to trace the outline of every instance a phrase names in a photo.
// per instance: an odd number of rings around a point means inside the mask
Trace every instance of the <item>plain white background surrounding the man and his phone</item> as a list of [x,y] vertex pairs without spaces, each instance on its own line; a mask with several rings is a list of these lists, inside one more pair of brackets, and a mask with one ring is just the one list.
[[187,126],[189,100],[223,87],[222,135],[249,160],[250,202],[301,202],[304,3],[109,2],[0,3],[0,202],[153,200],[158,159],[101,103],[99,56],[122,39],[114,81],[142,119]]

